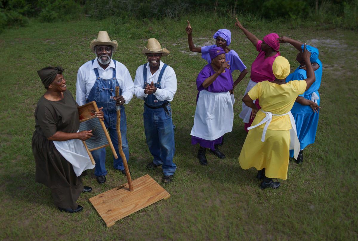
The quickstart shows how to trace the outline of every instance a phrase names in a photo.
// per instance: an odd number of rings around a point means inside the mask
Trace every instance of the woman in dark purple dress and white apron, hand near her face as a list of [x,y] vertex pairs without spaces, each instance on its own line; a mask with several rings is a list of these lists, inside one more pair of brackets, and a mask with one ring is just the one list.
[[225,158],[218,144],[222,142],[225,133],[232,131],[234,120],[234,100],[230,94],[233,80],[229,61],[226,61],[222,47],[214,47],[209,50],[209,54],[211,63],[205,65],[197,77],[200,95],[190,133],[192,145],[199,143],[198,159],[204,166],[208,165],[206,148],[220,159]]

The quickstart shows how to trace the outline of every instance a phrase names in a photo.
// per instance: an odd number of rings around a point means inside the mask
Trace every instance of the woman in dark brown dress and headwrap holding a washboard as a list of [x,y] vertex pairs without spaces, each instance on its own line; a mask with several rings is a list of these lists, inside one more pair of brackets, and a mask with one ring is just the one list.
[[[36,163],[36,182],[48,186],[52,191],[54,204],[60,211],[79,212],[83,209],[76,201],[81,192],[92,191],[83,186],[72,165],[57,151],[53,141],[72,139],[87,140],[92,131],[78,131],[79,117],[77,103],[67,90],[63,69],[45,67],[38,75],[47,90],[35,109],[35,131],[32,150]],[[96,112],[103,118],[103,112]]]

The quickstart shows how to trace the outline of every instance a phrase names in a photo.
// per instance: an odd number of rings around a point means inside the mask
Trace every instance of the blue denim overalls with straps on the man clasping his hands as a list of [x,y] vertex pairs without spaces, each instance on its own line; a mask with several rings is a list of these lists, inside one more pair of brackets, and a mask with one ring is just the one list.
[[[143,66],[144,88],[147,84],[147,68]],[[161,89],[160,81],[166,68],[164,64],[155,87]],[[173,175],[176,165],[173,163],[175,152],[174,129],[171,108],[168,101],[157,100],[154,94],[144,98],[144,131],[150,153],[155,165],[162,165],[165,176]]]

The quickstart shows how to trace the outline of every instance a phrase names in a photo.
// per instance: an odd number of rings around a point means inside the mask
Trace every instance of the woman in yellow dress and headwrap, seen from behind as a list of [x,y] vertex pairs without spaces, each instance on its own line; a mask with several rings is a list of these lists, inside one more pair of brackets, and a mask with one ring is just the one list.
[[[307,63],[305,81],[293,80],[286,83],[290,64],[285,57],[277,56],[272,65],[276,79],[259,82],[242,99],[252,108],[252,116],[255,119],[248,128],[250,131],[242,146],[239,162],[243,169],[255,167],[259,170],[257,178],[264,178],[261,189],[278,188],[280,182],[274,182],[272,178],[286,180],[289,150],[295,150],[296,158],[300,150],[295,120],[290,110],[297,96],[303,94],[315,81],[310,52],[306,50],[306,45],[301,55]],[[260,102],[260,111],[252,102],[256,99]]]

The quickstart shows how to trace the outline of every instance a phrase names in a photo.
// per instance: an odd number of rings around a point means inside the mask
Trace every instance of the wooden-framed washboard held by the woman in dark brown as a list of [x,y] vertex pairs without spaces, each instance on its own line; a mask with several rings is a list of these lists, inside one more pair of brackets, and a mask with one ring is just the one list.
[[103,120],[96,117],[95,112],[98,112],[98,107],[95,101],[78,107],[79,115],[79,131],[92,130],[92,137],[86,141],[82,141],[86,147],[89,158],[92,164],[95,165],[95,161],[91,154],[91,151],[100,149],[102,147],[110,146],[113,156],[117,159],[117,153],[114,150],[110,136]]

